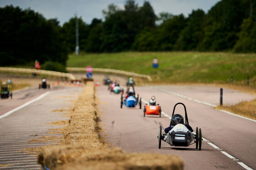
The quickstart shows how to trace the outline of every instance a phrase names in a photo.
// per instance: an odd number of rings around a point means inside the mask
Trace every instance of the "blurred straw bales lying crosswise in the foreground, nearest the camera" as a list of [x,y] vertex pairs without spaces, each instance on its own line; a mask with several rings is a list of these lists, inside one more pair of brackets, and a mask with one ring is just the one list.
[[122,150],[82,145],[44,147],[38,163],[51,170],[182,170],[174,155],[123,153]]

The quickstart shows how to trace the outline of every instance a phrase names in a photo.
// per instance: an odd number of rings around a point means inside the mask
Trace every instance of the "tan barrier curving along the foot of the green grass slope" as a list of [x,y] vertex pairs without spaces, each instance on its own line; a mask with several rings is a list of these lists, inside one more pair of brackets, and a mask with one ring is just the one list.
[[[67,67],[68,71],[86,71],[85,67]],[[112,74],[119,74],[119,75],[127,75],[127,76],[134,76],[140,77],[144,79],[148,79],[152,81],[152,78],[149,75],[142,75],[133,72],[123,71],[123,70],[114,70],[114,69],[101,69],[101,68],[92,68],[93,72],[101,72],[101,73],[112,73]]]

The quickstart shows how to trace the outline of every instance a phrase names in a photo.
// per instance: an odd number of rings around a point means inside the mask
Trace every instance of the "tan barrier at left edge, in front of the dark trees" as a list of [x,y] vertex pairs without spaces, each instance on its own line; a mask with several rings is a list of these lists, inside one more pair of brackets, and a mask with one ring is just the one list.
[[35,69],[23,69],[23,68],[13,68],[13,67],[0,67],[0,71],[7,72],[18,72],[18,73],[37,73],[41,75],[52,75],[57,77],[67,77],[70,80],[75,80],[75,76],[70,73],[62,73],[58,71],[48,71],[48,70],[35,70]]

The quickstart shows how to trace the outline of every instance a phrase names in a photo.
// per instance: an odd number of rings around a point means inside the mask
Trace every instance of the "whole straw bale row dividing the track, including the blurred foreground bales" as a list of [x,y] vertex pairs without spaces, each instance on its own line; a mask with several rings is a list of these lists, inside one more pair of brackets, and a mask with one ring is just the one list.
[[62,144],[43,147],[37,162],[51,170],[182,170],[184,167],[178,156],[124,153],[111,148],[101,131],[94,84],[87,82],[74,109],[70,110],[69,123],[62,130]]

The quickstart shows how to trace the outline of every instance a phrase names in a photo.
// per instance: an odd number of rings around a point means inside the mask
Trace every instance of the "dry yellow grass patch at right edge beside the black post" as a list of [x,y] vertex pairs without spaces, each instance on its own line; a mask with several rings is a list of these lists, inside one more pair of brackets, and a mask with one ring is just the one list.
[[219,108],[256,120],[256,100],[243,101],[236,105],[224,105]]

